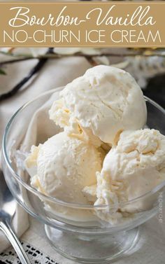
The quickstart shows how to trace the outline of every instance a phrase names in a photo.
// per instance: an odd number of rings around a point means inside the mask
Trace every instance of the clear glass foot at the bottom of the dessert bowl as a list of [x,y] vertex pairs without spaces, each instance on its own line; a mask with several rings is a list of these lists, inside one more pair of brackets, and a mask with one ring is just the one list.
[[45,233],[62,256],[80,263],[109,263],[129,251],[138,240],[138,228],[114,234],[65,232],[45,225]]

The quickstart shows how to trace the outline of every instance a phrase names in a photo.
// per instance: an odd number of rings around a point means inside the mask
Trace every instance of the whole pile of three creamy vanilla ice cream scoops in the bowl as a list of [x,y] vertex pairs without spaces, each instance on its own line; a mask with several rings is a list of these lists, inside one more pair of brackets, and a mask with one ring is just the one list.
[[44,200],[55,214],[114,223],[152,207],[154,196],[128,203],[165,181],[165,137],[142,130],[145,99],[133,77],[103,65],[88,69],[66,85],[49,114],[64,132],[32,146],[31,185],[64,202],[105,205],[83,211]]

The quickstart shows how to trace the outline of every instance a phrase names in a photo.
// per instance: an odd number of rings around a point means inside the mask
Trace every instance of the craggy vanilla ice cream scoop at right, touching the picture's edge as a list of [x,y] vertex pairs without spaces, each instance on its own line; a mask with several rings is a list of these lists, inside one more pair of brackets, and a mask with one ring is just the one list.
[[[165,181],[165,137],[157,130],[124,131],[117,146],[113,146],[103,161],[101,173],[97,173],[96,204],[108,204],[119,208],[145,195]],[[134,213],[150,207],[150,199],[142,198],[120,207],[120,211]],[[110,221],[110,214],[99,213]]]

